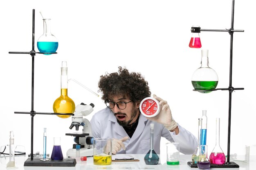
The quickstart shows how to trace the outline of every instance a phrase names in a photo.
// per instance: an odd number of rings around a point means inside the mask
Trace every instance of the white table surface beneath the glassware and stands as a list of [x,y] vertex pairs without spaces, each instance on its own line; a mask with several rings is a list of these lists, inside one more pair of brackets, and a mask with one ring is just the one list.
[[[180,165],[170,166],[166,165],[165,158],[160,157],[158,165],[146,165],[144,162],[145,155],[129,154],[136,159],[138,162],[112,162],[108,166],[97,166],[93,164],[93,158],[89,157],[87,161],[77,161],[75,167],[30,167],[23,166],[27,157],[16,156],[16,168],[6,168],[6,164],[9,162],[9,157],[0,157],[0,170],[198,170],[198,168],[190,168],[187,165],[188,161],[191,161],[191,155],[180,155]],[[162,160],[161,160],[162,159]],[[231,160],[232,161],[232,160]],[[256,159],[251,159],[249,163],[244,163],[241,161],[236,162],[240,168],[211,168],[211,170],[256,170]]]

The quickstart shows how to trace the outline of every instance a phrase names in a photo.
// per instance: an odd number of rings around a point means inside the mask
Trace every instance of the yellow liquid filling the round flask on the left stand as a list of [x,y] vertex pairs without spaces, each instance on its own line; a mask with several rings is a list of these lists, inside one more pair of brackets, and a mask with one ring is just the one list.
[[[58,97],[53,104],[54,113],[74,113],[75,111],[74,101],[67,96],[67,88],[61,89],[61,96]],[[71,115],[57,115],[61,118],[68,118]]]

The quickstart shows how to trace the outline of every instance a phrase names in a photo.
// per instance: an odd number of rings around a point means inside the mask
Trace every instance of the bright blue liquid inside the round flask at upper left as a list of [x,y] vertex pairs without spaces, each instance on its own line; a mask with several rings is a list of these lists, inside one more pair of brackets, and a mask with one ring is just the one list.
[[40,53],[55,53],[58,49],[58,42],[37,42],[37,48]]

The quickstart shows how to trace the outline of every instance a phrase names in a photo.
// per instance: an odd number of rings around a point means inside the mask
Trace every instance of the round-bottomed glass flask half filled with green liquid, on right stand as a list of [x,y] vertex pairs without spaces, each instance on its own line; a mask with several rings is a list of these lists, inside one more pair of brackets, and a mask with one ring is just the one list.
[[210,93],[218,85],[217,73],[208,66],[208,50],[202,50],[201,67],[192,75],[192,85],[200,93]]

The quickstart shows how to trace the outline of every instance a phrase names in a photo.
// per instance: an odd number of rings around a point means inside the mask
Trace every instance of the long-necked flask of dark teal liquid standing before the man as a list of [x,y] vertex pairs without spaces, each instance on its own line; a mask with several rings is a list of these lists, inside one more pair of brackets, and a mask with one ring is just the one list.
[[144,157],[144,161],[147,165],[157,165],[159,157],[154,150],[154,124],[150,124],[150,150]]

